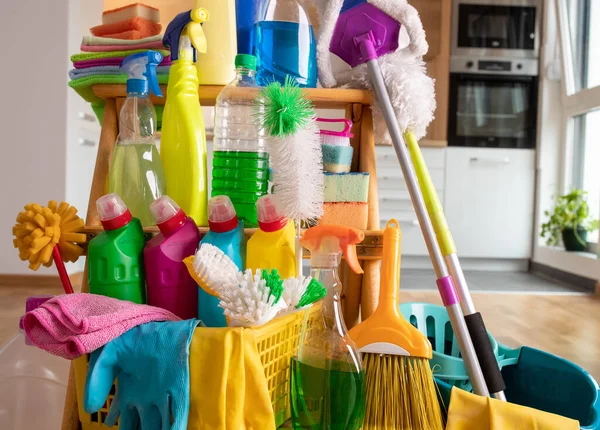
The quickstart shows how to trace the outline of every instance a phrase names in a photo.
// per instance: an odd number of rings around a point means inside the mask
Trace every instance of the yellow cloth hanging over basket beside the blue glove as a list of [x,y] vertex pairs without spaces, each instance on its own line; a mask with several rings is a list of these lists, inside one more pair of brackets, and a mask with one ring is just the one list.
[[275,429],[252,329],[196,329],[190,345],[190,388],[188,430]]

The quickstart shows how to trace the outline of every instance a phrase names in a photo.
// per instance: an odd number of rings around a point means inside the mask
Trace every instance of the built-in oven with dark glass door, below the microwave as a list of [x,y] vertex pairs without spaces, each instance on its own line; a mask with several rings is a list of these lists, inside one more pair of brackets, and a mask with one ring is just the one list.
[[535,148],[537,60],[452,58],[448,145]]

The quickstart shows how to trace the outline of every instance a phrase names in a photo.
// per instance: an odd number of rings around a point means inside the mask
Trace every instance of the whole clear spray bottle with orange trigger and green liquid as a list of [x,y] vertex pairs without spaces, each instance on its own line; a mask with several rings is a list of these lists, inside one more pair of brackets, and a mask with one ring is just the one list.
[[307,230],[302,245],[311,251],[311,276],[327,289],[321,318],[304,320],[298,356],[291,363],[292,425],[304,429],[358,430],[363,425],[365,385],[360,354],[342,317],[338,265],[362,273],[356,244],[364,233],[343,226]]

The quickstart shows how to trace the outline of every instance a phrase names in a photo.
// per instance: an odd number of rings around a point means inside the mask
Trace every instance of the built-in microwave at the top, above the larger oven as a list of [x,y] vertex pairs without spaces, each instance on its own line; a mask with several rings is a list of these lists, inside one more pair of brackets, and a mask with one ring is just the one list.
[[452,55],[539,56],[542,0],[453,0]]

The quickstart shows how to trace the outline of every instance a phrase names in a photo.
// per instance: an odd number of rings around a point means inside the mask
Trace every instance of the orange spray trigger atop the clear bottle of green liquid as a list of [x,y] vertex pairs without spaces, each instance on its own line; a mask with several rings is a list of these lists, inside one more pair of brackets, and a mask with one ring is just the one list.
[[348,266],[354,273],[363,273],[356,256],[356,245],[361,243],[365,234],[352,227],[343,225],[318,225],[304,232],[300,239],[303,247],[314,255],[344,254]]

